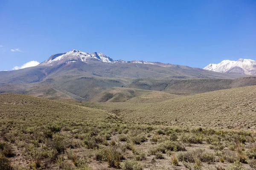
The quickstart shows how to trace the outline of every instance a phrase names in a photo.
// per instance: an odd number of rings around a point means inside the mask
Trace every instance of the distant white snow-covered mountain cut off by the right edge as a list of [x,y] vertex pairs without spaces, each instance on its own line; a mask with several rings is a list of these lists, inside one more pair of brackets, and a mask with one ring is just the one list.
[[209,64],[204,70],[220,73],[256,74],[256,61],[252,59],[239,59],[238,61],[223,60],[218,64]]

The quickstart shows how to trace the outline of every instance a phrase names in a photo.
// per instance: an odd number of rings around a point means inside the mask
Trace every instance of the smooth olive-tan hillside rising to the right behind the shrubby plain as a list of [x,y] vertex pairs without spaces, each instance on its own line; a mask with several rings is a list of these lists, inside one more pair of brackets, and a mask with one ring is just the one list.
[[256,128],[256,86],[182,96],[158,103],[101,103],[125,122]]

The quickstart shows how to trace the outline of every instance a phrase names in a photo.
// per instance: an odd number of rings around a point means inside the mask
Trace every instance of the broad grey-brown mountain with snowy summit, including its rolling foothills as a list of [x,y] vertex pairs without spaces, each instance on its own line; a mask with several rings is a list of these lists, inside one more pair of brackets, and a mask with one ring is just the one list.
[[0,71],[0,93],[49,99],[116,102],[140,100],[148,91],[191,95],[247,85],[256,85],[256,77],[161,62],[113,60],[100,52],[78,50],[54,54],[35,67]]

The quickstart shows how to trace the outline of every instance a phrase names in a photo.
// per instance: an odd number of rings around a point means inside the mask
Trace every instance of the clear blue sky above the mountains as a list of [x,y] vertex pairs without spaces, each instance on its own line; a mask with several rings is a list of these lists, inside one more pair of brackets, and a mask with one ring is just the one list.
[[0,70],[72,49],[199,68],[256,60],[256,1],[0,0]]

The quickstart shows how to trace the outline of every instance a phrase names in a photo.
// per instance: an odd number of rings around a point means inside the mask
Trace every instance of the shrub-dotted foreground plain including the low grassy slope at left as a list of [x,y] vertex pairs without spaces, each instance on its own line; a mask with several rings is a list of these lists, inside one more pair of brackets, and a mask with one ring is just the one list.
[[[256,133],[251,129],[127,122],[127,117],[120,119],[109,113],[108,108],[100,108],[105,104],[86,103],[85,107],[84,102],[56,102],[16,94],[3,96],[0,95],[0,169],[3,170],[17,166],[142,170],[145,165],[153,169],[161,162],[163,168],[173,169],[182,166],[210,169],[214,162],[218,162],[218,168],[214,167],[218,170],[222,166],[236,170],[245,164],[256,167]],[[138,116],[139,120],[140,112]],[[175,119],[181,121],[178,116]],[[17,165],[17,159],[24,161]]]

